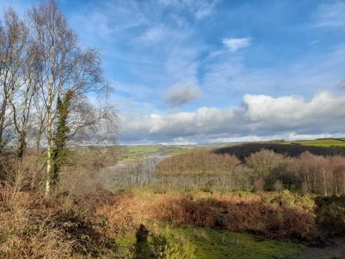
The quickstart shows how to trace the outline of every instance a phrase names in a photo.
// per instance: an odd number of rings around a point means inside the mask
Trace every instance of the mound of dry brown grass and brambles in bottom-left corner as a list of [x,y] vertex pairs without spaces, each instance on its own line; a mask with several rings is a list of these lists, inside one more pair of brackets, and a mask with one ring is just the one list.
[[44,198],[6,187],[0,191],[0,207],[3,258],[71,258],[109,252],[104,246],[106,226],[65,198]]

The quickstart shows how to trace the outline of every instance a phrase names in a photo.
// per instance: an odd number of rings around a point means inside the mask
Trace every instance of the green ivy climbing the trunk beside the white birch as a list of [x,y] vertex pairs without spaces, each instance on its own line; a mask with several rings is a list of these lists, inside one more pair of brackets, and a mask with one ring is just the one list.
[[73,91],[68,90],[61,99],[57,98],[57,129],[53,138],[54,149],[52,151],[52,169],[51,169],[51,184],[55,186],[59,180],[59,173],[61,167],[66,162],[67,158],[67,142],[70,128],[67,125],[68,113],[70,108],[70,100],[72,99]]

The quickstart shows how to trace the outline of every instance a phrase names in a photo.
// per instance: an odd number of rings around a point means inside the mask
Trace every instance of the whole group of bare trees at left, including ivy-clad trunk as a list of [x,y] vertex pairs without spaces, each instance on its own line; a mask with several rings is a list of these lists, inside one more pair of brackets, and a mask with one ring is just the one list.
[[23,15],[3,12],[0,26],[0,155],[45,152],[45,190],[59,181],[69,144],[112,142],[117,111],[98,50],[85,48],[55,0]]

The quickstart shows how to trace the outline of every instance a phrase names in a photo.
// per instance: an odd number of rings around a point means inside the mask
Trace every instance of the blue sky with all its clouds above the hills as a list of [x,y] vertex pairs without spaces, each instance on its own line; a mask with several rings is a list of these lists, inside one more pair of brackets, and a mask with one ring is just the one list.
[[101,51],[119,144],[345,136],[345,0],[57,2]]

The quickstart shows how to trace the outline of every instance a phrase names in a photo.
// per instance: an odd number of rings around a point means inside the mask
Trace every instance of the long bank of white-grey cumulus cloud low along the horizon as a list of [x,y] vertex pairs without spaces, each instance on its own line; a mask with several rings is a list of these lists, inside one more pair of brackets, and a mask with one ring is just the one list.
[[345,128],[344,106],[345,97],[328,92],[310,101],[299,96],[245,95],[236,107],[124,116],[121,140],[203,143],[338,136]]

